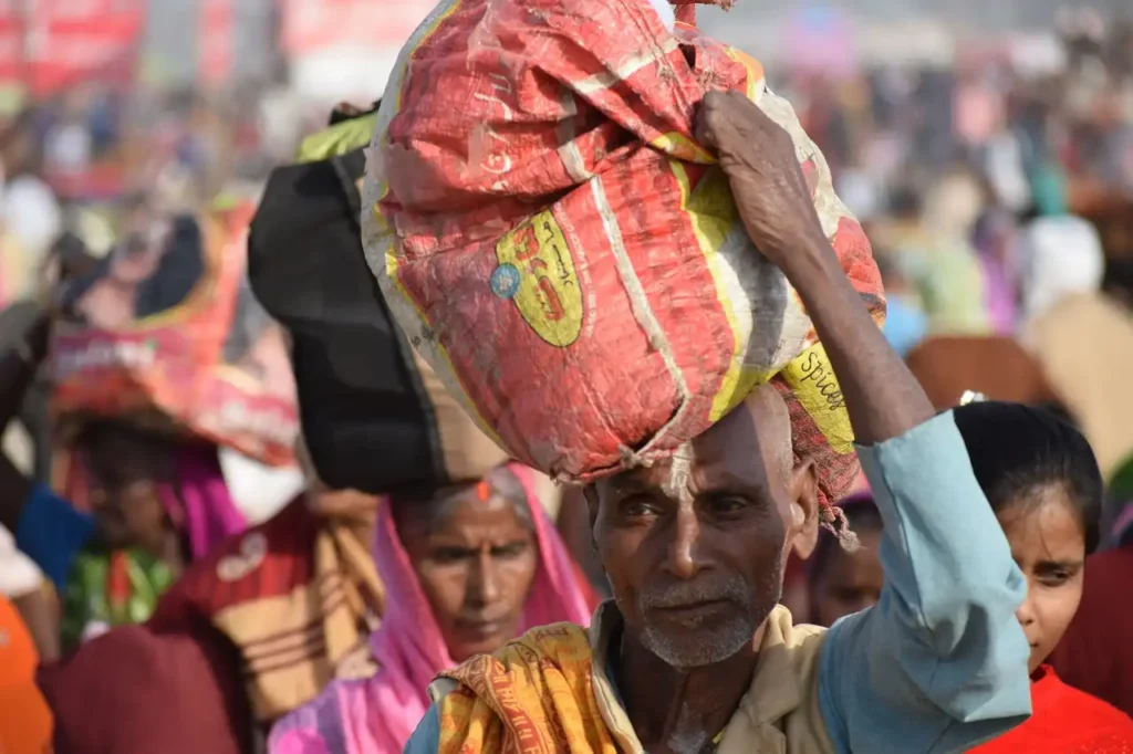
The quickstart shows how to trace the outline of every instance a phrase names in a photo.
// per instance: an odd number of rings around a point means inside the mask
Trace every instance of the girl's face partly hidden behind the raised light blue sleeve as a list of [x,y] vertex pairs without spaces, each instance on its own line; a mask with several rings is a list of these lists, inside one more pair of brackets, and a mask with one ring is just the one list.
[[1015,500],[998,519],[1026,577],[1026,599],[1015,615],[1031,645],[1034,672],[1058,645],[1082,601],[1085,532],[1062,485]]

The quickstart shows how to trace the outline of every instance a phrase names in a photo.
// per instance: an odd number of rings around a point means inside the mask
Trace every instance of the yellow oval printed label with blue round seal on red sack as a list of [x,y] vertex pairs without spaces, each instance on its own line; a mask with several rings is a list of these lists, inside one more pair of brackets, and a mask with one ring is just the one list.
[[516,303],[531,329],[566,348],[582,332],[582,290],[566,238],[551,212],[540,212],[496,245],[492,292]]

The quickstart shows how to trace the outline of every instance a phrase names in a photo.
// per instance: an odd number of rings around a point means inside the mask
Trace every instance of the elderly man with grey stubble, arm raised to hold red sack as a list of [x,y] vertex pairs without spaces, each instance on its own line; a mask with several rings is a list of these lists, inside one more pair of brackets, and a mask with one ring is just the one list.
[[825,633],[778,606],[818,503],[765,387],[671,462],[588,491],[613,602],[589,632],[536,629],[445,674],[409,754],[960,752],[1030,711],[1025,584],[951,413],[846,281],[787,135],[735,94],[709,95],[699,130],[841,378],[885,517],[881,600]]

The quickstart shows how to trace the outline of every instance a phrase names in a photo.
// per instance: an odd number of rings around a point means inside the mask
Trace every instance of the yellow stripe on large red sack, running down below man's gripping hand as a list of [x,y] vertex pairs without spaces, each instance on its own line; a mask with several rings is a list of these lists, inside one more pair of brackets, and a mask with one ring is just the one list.
[[724,309],[724,317],[733,337],[732,361],[724,372],[724,379],[713,399],[712,411],[708,414],[712,421],[717,421],[739,405],[760,382],[758,371],[743,366],[744,344],[740,340],[740,326],[735,319],[732,300],[727,295],[724,272],[721,269],[723,263],[719,258],[719,248],[724,246],[724,240],[733,225],[739,222],[740,215],[732,200],[727,179],[722,172],[709,169],[693,192],[684,165],[675,160],[668,164],[681,188],[681,209],[692,222],[692,232],[697,237],[697,245],[705,256],[705,262],[708,263],[716,286],[716,299]]

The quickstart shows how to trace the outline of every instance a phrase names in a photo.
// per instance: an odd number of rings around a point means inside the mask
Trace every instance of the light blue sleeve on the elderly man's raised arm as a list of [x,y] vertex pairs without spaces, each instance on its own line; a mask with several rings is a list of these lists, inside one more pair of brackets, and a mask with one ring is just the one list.
[[823,718],[838,752],[965,752],[1031,712],[1026,583],[951,412],[858,452],[885,589],[827,634]]

